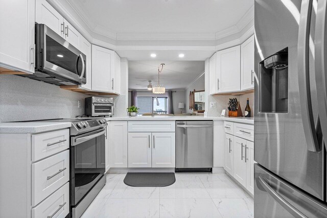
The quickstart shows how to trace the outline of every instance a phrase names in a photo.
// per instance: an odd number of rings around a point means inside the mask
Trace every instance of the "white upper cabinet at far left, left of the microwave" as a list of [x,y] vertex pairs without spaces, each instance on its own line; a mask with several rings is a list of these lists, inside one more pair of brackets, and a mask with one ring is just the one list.
[[35,0],[0,0],[0,67],[34,73]]

